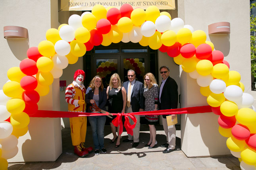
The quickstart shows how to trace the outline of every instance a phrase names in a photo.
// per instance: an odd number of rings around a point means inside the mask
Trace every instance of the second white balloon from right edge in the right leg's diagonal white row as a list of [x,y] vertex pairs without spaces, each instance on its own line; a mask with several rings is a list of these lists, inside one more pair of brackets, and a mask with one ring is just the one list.
[[236,101],[243,96],[243,90],[236,85],[229,85],[224,91],[227,100]]

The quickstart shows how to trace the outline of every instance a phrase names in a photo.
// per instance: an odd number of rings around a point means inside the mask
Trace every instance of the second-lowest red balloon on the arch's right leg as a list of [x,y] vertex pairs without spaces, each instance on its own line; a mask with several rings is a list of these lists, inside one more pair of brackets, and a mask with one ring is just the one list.
[[242,124],[237,124],[233,126],[231,129],[231,133],[238,140],[246,140],[250,137],[249,128]]

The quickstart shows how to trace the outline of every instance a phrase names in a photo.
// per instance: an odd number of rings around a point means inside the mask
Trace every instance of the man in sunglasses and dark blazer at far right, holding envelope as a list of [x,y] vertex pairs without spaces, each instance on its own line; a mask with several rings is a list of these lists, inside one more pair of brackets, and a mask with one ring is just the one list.
[[[177,109],[178,85],[174,79],[169,77],[170,70],[167,66],[160,67],[160,74],[163,79],[159,88],[159,110]],[[162,144],[161,147],[166,147],[163,153],[170,153],[175,150],[176,129],[175,125],[167,125],[166,116],[162,115],[162,122],[167,143]],[[171,117],[174,119],[177,115],[171,115]]]

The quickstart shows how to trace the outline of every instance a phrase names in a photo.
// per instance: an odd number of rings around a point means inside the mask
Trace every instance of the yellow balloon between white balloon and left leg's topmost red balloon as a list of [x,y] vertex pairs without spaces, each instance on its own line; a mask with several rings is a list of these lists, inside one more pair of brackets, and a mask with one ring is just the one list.
[[54,44],[47,40],[41,41],[38,44],[38,51],[44,57],[51,57],[55,54]]

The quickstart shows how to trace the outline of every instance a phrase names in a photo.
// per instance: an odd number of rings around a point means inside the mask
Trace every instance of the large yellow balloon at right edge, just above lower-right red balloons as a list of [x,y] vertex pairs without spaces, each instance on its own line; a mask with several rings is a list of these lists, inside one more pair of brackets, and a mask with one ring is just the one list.
[[250,108],[239,109],[235,118],[243,125],[256,125],[256,112]]

